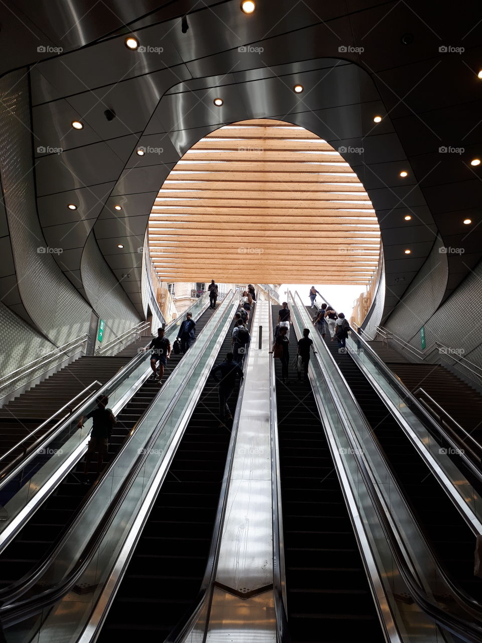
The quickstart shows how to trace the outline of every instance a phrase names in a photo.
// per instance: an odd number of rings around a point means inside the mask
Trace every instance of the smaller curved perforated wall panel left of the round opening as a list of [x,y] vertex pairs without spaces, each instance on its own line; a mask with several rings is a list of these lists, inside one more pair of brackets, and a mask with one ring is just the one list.
[[105,263],[92,234],[87,239],[82,253],[80,274],[85,288],[85,296],[94,311],[105,321],[104,344],[118,337],[124,331],[129,331],[141,321],[134,305]]

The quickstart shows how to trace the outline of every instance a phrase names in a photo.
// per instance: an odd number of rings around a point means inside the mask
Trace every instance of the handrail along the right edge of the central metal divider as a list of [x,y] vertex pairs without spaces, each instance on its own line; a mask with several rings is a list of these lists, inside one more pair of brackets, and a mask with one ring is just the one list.
[[[273,340],[272,303],[269,303],[269,348]],[[274,357],[269,354],[269,425],[271,428],[271,504],[272,504],[272,547],[273,547],[273,595],[276,614],[276,642],[290,643],[285,596],[283,595],[283,577],[285,575],[283,545],[283,511],[280,496],[280,452],[278,449],[278,412],[276,402],[276,377],[274,374]],[[276,429],[275,429],[276,426]]]

